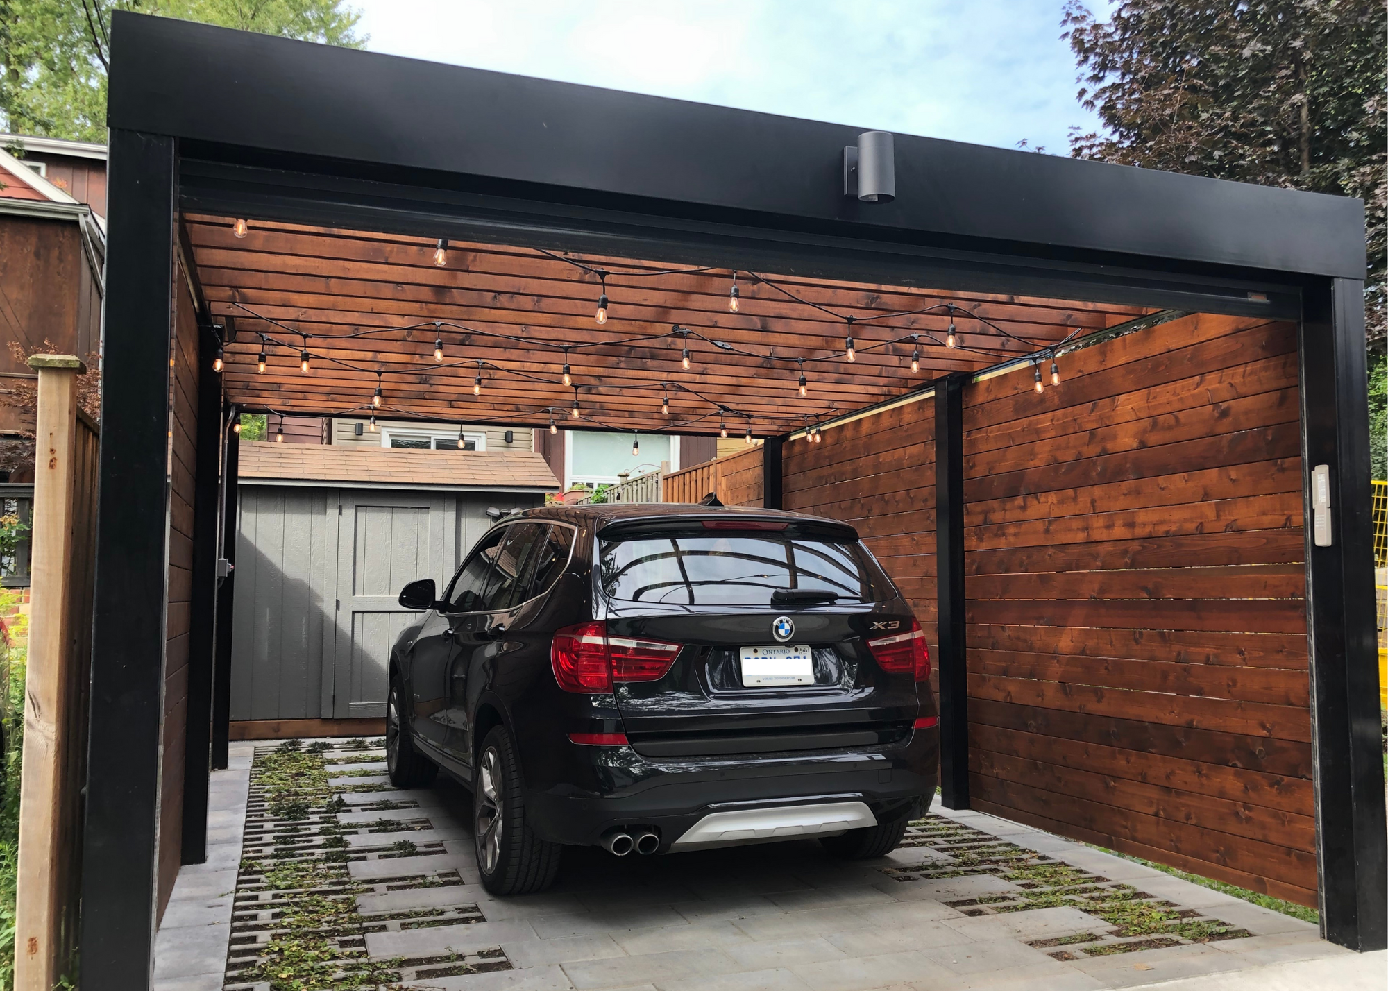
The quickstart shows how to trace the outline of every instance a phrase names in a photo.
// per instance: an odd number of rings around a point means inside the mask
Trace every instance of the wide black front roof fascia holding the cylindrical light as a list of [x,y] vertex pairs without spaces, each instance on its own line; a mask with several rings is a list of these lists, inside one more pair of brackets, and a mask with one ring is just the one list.
[[1363,204],[1346,197],[898,135],[898,197],[863,204],[841,178],[863,128],[128,12],[112,18],[108,124],[645,214],[1364,276]]

